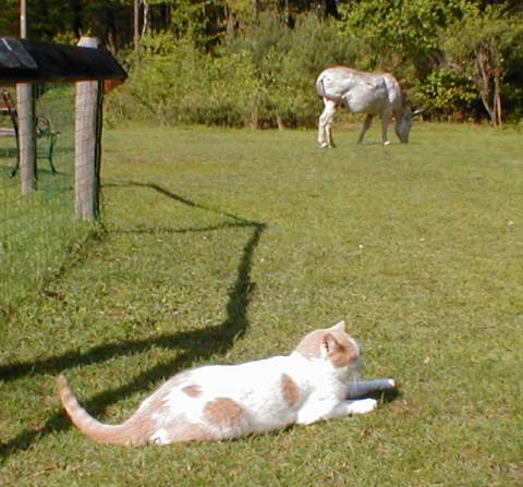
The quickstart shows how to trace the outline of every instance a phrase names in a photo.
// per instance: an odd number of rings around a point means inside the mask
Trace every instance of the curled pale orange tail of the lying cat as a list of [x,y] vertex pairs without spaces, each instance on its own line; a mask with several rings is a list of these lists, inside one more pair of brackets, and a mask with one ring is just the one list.
[[[73,424],[90,439],[99,443],[139,446],[147,442],[147,431],[136,424],[133,417],[121,425],[105,425],[85,411],[71,392],[68,379],[60,375],[57,379],[60,399]],[[145,428],[147,429],[147,428]]]

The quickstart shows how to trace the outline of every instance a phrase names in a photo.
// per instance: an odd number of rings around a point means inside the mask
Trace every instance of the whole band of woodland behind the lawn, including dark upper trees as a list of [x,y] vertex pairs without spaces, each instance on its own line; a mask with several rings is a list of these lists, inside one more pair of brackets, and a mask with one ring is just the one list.
[[[136,3],[136,4],[135,4]],[[2,0],[0,34],[17,34]],[[135,8],[139,22],[135,23]],[[39,0],[29,38],[94,34],[127,69],[109,121],[312,126],[326,66],[392,72],[433,120],[523,117],[520,0]]]

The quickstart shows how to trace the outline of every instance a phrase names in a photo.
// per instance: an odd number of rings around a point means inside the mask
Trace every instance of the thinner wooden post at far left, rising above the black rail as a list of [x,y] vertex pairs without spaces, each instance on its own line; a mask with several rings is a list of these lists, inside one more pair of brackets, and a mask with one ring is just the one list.
[[[20,4],[20,37],[27,37],[26,4]],[[16,113],[19,117],[19,162],[22,193],[36,190],[36,129],[35,98],[31,83],[16,85]]]

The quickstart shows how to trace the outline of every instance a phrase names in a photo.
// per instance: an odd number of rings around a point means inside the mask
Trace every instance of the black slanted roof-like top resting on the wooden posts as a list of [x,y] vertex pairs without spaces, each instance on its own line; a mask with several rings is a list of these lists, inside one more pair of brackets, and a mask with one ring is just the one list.
[[102,47],[0,37],[0,83],[123,81],[126,76]]

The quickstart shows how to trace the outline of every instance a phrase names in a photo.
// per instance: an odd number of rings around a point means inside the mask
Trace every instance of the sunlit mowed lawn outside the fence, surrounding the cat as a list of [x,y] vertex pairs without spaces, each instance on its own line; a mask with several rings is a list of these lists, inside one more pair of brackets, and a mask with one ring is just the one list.
[[[522,135],[418,124],[384,148],[358,129],[332,150],[313,131],[106,131],[104,231],[3,326],[0,484],[522,485]],[[64,372],[118,423],[178,370],[342,318],[364,376],[401,383],[366,416],[126,449],[57,399]]]

